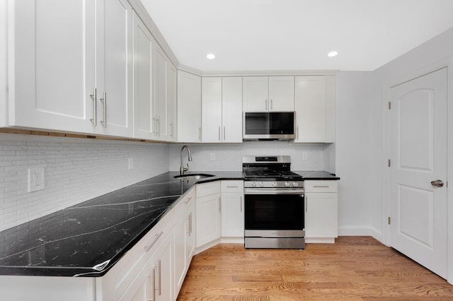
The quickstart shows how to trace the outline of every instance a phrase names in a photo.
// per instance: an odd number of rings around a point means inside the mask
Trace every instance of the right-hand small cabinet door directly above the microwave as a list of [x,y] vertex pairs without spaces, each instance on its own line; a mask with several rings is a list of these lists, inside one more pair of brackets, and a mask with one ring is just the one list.
[[269,110],[294,111],[294,76],[269,76]]

